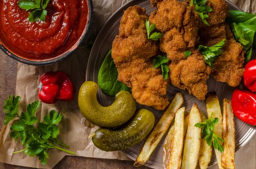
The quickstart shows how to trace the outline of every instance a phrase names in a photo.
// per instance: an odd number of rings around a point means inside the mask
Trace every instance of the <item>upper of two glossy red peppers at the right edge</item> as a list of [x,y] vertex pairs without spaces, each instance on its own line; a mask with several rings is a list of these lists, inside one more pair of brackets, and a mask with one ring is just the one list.
[[244,85],[252,92],[256,92],[256,59],[245,66]]

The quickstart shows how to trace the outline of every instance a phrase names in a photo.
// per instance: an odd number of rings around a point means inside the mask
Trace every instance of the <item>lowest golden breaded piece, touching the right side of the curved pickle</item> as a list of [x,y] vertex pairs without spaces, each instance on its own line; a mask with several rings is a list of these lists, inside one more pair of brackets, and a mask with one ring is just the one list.
[[160,69],[153,67],[153,62],[135,59],[118,63],[118,80],[131,87],[131,92],[140,104],[163,110],[169,105],[166,95],[169,79],[163,80]]

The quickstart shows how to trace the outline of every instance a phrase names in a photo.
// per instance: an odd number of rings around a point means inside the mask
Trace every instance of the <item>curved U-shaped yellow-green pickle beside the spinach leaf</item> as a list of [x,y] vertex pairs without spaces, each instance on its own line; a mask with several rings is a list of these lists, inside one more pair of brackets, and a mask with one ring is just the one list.
[[133,117],[136,112],[136,101],[131,93],[126,91],[117,93],[114,102],[104,107],[97,100],[97,91],[98,85],[92,81],[84,82],[79,90],[79,109],[90,123],[112,128],[123,125]]

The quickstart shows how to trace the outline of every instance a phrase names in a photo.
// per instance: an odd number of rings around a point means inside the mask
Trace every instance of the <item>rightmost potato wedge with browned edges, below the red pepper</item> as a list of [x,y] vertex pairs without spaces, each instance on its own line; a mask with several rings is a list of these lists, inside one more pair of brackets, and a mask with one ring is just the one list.
[[223,100],[223,123],[222,123],[222,138],[224,152],[221,154],[221,166],[224,169],[236,169],[235,166],[235,122],[234,113],[231,106],[231,101]]

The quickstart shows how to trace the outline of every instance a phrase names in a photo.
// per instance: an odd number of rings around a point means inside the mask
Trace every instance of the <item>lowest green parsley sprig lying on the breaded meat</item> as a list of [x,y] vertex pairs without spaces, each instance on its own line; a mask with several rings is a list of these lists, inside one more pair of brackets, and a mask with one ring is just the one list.
[[166,80],[168,78],[168,72],[169,72],[169,67],[165,64],[169,61],[168,58],[165,56],[160,56],[158,55],[157,57],[154,57],[153,62],[154,62],[154,68],[158,68],[161,66],[162,70],[162,76],[163,79]]

